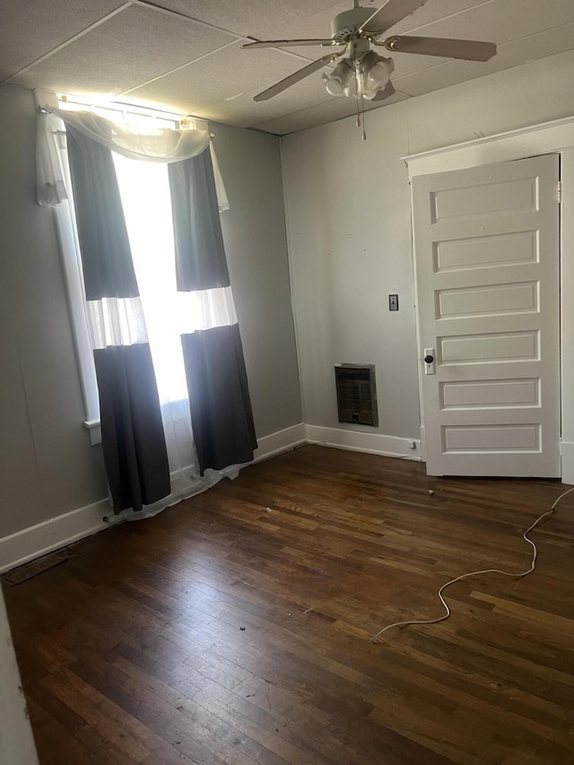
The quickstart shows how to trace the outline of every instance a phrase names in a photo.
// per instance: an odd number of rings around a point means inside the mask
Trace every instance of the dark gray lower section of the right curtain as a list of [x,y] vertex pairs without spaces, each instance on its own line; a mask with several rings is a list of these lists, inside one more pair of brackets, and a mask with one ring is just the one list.
[[201,474],[250,462],[257,439],[239,326],[182,335],[181,343]]

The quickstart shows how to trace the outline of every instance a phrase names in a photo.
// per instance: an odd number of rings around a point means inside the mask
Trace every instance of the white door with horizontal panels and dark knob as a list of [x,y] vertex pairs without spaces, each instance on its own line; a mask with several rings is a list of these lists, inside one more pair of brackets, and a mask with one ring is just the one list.
[[430,475],[561,474],[558,179],[553,154],[413,178]]

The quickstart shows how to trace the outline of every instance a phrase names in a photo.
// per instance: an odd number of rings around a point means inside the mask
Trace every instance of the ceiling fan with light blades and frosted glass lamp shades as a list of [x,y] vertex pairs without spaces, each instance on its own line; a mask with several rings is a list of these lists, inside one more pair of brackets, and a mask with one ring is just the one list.
[[[270,39],[256,40],[242,48],[287,48],[290,46],[343,46],[333,53],[317,58],[302,69],[285,77],[261,93],[254,100],[271,99],[291,85],[299,83],[309,74],[317,72],[338,60],[335,69],[324,73],[326,91],[334,96],[348,96],[355,83],[357,103],[362,98],[371,101],[385,100],[393,95],[395,88],[390,75],[395,69],[391,57],[378,56],[373,47],[378,46],[396,53],[418,53],[423,56],[463,58],[468,61],[488,61],[496,54],[493,42],[468,39],[443,39],[396,35],[380,39],[409,13],[420,8],[426,0],[387,0],[378,11],[361,8],[359,0],[353,0],[349,11],[339,13],[331,23],[330,39]],[[362,99],[361,99],[362,102]]]

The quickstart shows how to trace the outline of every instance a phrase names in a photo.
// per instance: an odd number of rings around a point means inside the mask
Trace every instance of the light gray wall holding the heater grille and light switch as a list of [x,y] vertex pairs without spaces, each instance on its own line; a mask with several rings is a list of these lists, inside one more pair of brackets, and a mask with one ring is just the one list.
[[[333,365],[377,366],[379,432],[420,435],[404,157],[574,113],[574,51],[283,138],[304,421],[337,421]],[[389,313],[387,295],[400,310]]]

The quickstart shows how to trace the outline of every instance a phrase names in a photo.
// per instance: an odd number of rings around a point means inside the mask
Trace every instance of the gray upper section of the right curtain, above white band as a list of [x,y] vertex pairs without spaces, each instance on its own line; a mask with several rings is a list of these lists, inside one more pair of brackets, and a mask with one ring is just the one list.
[[229,287],[209,149],[190,160],[171,162],[168,170],[178,290]]

